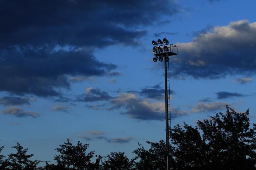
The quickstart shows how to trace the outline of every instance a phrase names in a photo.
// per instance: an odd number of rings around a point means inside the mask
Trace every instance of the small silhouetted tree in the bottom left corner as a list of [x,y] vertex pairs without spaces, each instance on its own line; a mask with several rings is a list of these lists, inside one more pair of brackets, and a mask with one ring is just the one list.
[[19,142],[16,142],[17,146],[12,146],[12,148],[17,149],[17,153],[11,153],[8,155],[8,159],[2,162],[3,169],[10,170],[34,170],[36,165],[40,162],[37,160],[31,161],[29,158],[34,156],[34,154],[26,155],[28,149],[24,149]]

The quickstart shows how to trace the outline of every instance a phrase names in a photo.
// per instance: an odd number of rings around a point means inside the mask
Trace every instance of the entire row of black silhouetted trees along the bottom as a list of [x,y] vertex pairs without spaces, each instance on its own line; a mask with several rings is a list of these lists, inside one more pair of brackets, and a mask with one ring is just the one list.
[[[173,170],[236,170],[256,169],[256,124],[250,128],[249,109],[245,113],[236,113],[229,109],[225,114],[217,113],[210,119],[198,120],[196,127],[184,122],[170,128],[171,144],[170,169]],[[201,132],[201,134],[200,134]],[[86,152],[89,144],[77,145],[69,139],[54,155],[57,165],[49,164],[37,167],[40,160],[30,160],[34,154],[27,155],[19,142],[13,146],[17,153],[1,155],[4,146],[0,147],[0,170],[165,170],[166,145],[159,142],[146,141],[150,148],[146,150],[138,142],[139,147],[132,153],[131,160],[124,152],[111,152],[107,156],[95,155],[95,151]],[[50,162],[50,161],[49,161]]]

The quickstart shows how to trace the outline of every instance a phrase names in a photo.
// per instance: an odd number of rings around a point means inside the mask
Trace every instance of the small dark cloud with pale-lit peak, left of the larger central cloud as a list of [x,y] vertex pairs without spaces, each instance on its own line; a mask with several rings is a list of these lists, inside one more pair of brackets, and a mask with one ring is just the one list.
[[100,91],[100,89],[93,89],[92,87],[85,90],[85,94],[81,94],[77,97],[76,101],[101,101],[101,100],[110,100],[111,97],[107,92]]

